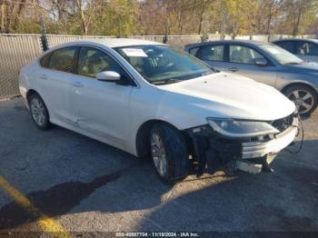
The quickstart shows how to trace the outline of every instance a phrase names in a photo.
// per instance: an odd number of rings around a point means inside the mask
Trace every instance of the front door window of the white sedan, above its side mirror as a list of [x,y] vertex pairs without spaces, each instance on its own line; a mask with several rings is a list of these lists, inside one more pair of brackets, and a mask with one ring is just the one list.
[[122,67],[112,57],[94,48],[81,47],[78,57],[77,74],[95,77],[95,74],[103,71],[114,71],[125,75]]

